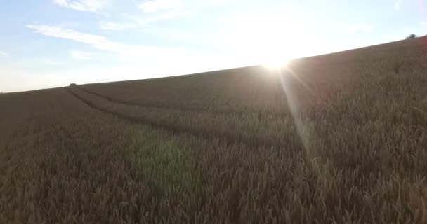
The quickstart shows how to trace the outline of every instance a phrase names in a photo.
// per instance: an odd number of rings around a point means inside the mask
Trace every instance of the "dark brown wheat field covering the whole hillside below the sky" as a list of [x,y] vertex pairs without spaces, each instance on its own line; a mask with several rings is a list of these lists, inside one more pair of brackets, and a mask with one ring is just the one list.
[[427,223],[427,38],[0,105],[0,223]]

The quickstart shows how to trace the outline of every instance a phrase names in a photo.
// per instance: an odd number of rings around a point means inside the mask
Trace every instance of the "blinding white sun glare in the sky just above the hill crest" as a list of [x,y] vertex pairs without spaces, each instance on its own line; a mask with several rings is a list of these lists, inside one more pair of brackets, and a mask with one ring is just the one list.
[[[252,15],[239,16],[228,25],[229,33],[239,27],[237,34],[230,36],[233,48],[237,49],[247,64],[261,64],[266,69],[276,70],[287,66],[287,63],[301,55],[295,45],[296,39],[289,35],[289,29],[297,24],[284,15],[263,15],[254,18]],[[248,47],[251,54],[247,54]]]

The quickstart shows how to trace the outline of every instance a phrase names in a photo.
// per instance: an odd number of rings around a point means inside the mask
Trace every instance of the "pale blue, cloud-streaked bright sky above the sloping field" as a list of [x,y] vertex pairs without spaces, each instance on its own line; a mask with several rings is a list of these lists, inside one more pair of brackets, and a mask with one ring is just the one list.
[[0,0],[0,92],[176,76],[427,33],[425,0]]

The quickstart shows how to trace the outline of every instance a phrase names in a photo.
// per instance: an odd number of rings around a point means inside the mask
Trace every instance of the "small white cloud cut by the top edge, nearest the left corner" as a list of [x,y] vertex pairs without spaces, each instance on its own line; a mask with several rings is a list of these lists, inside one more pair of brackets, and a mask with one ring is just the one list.
[[53,0],[53,3],[81,12],[97,12],[107,6],[108,0]]

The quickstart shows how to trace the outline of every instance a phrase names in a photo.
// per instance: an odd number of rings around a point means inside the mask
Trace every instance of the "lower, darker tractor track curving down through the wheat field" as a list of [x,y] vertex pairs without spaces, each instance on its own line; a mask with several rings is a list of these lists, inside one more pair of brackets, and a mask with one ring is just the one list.
[[280,142],[269,141],[268,139],[262,139],[262,138],[256,139],[254,137],[242,137],[242,136],[232,137],[232,136],[229,136],[228,134],[216,132],[214,130],[209,130],[209,131],[208,130],[194,130],[192,128],[182,127],[180,125],[165,124],[165,123],[156,122],[156,121],[146,119],[146,118],[129,116],[129,115],[126,115],[124,113],[117,113],[115,111],[103,109],[103,108],[97,106],[96,104],[93,104],[93,102],[90,102],[89,100],[84,99],[84,97],[79,96],[79,94],[73,92],[68,87],[65,87],[65,90],[67,90],[67,92],[70,92],[70,94],[72,94],[77,99],[81,100],[81,102],[84,102],[84,104],[90,106],[92,109],[95,109],[97,111],[101,111],[103,113],[110,114],[112,116],[116,116],[117,118],[121,118],[123,120],[128,120],[131,123],[149,125],[150,127],[166,130],[166,131],[171,132],[173,134],[191,134],[193,136],[203,137],[204,139],[207,139],[207,140],[218,139],[220,141],[222,140],[223,142],[225,142],[225,144],[227,144],[227,146],[232,146],[235,144],[244,144],[246,146],[256,147],[256,148],[261,148],[261,147],[281,148],[281,147],[283,147],[283,145],[280,144]]

